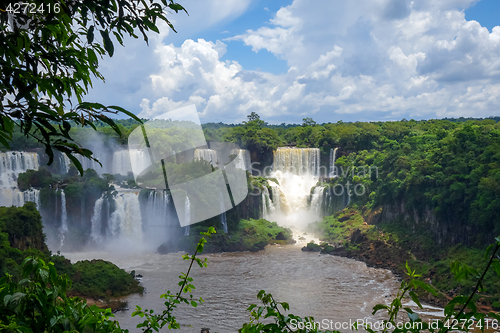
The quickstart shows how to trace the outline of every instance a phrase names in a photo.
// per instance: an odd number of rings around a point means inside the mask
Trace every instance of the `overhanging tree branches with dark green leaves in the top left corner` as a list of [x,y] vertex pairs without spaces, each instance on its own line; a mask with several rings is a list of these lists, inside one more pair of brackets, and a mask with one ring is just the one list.
[[55,148],[81,174],[73,154],[92,152],[75,143],[72,126],[96,129],[100,120],[121,134],[107,116],[118,112],[140,122],[119,106],[84,101],[93,79],[104,80],[99,59],[113,56],[112,39],[123,46],[125,36],[140,34],[147,43],[160,20],[174,30],[167,11],[185,11],[173,0],[4,1],[0,9],[0,144],[9,147],[18,126],[45,146],[49,164]]

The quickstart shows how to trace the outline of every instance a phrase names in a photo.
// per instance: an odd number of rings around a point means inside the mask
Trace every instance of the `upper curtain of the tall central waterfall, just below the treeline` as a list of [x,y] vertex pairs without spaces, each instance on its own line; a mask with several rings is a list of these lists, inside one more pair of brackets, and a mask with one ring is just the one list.
[[284,148],[274,152],[273,171],[319,176],[319,148]]

